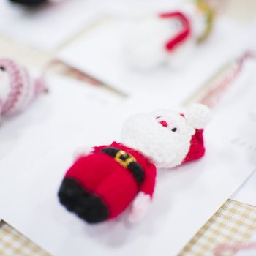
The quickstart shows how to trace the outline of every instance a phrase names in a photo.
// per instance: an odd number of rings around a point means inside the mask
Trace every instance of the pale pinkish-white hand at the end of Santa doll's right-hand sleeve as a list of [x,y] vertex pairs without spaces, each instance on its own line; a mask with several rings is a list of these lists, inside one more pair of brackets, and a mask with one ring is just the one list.
[[135,200],[132,202],[132,207],[128,215],[128,221],[130,223],[140,222],[140,220],[145,217],[150,203],[150,196],[143,192],[139,192]]

